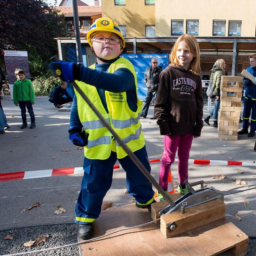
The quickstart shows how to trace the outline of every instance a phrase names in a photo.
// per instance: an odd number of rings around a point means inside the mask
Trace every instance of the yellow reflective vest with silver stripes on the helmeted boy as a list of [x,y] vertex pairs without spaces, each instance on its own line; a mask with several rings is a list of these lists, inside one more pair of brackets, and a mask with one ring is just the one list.
[[[89,68],[95,69],[95,64]],[[119,58],[111,63],[108,73],[114,73],[118,68],[127,68],[132,72],[137,94],[137,77],[132,63],[124,58]],[[145,139],[140,123],[142,101],[138,99],[138,95],[137,111],[133,112],[127,104],[126,92],[114,93],[105,91],[108,107],[107,113],[95,86],[78,80],[75,82],[132,152],[144,147]],[[89,134],[88,144],[84,147],[84,156],[89,159],[103,160],[110,156],[111,151],[116,152],[119,159],[127,156],[123,148],[118,145],[108,129],[100,123],[99,118],[76,89],[75,93],[79,119],[83,129]]]

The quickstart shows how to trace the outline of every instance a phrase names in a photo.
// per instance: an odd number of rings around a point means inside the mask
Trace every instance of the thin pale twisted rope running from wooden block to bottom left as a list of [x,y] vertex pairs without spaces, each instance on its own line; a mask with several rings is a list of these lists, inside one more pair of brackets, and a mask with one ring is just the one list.
[[98,237],[95,237],[95,238],[92,238],[92,239],[89,239],[89,240],[86,240],[86,241],[83,241],[83,242],[77,242],[77,243],[74,243],[74,244],[66,244],[66,245],[61,245],[61,246],[58,246],[58,247],[52,247],[52,248],[47,248],[47,249],[42,249],[42,250],[35,250],[35,251],[30,251],[30,252],[19,252],[19,253],[12,253],[12,254],[4,254],[4,255],[0,255],[0,256],[27,255],[27,254],[35,253],[35,252],[45,252],[45,251],[51,251],[51,250],[57,250],[57,249],[61,249],[61,248],[66,248],[66,247],[69,247],[69,246],[75,246],[75,245],[79,245],[79,244],[86,244],[86,243],[92,242],[92,241],[94,241],[94,240],[103,238],[103,237],[105,237],[105,236],[109,236],[109,235],[112,235],[112,234],[114,234],[114,233],[120,232],[120,231],[132,229],[132,228],[138,228],[138,227],[142,227],[142,226],[146,226],[146,225],[148,225],[148,224],[154,223],[154,222],[157,221],[157,220],[160,220],[160,218],[159,218],[159,219],[156,219],[156,220],[149,221],[149,222],[147,222],[147,223],[143,223],[143,224],[137,225],[137,226],[118,229],[118,230],[115,230],[115,231],[110,232],[110,233],[108,233],[108,234],[105,234],[105,235],[102,235],[102,236],[98,236]]

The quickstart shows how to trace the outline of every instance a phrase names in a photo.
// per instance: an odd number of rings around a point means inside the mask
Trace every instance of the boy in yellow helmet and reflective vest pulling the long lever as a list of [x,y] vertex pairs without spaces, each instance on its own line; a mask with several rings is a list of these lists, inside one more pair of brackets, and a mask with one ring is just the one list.
[[[120,58],[125,40],[115,21],[99,18],[87,33],[97,62],[91,67],[68,62],[52,62],[51,68],[62,80],[75,81],[111,127],[150,172],[145,139],[141,131],[142,102],[137,96],[137,78],[132,63]],[[126,172],[127,191],[136,206],[151,210],[154,191],[99,118],[75,91],[69,139],[84,147],[84,177],[76,203],[77,234],[80,239],[93,235],[93,221],[99,217],[104,196],[112,183],[116,160]]]

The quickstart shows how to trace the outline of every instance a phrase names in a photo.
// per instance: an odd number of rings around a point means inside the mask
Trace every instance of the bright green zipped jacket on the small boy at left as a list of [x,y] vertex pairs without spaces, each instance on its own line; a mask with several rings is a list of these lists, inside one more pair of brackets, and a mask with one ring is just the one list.
[[35,103],[35,91],[33,84],[27,78],[17,79],[13,84],[13,102],[18,104],[19,101],[30,101]]

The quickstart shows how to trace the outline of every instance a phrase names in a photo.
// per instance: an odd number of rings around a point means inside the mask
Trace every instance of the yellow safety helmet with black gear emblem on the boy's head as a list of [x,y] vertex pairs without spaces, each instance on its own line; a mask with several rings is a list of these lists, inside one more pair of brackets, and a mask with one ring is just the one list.
[[110,33],[115,34],[116,36],[120,37],[121,38],[120,44],[121,44],[121,47],[124,49],[124,46],[125,46],[124,36],[122,35],[122,31],[118,27],[116,21],[111,20],[109,18],[101,17],[92,23],[92,26],[90,27],[89,32],[86,35],[87,41],[91,47],[92,47],[91,40],[92,40],[93,35],[96,32],[104,32],[104,33],[110,32]]

